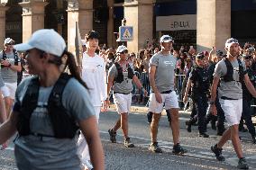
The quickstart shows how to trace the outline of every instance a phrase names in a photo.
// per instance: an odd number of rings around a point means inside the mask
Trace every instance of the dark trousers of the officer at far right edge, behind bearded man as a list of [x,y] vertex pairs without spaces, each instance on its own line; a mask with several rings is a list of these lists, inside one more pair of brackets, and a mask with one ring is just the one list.
[[252,137],[255,137],[255,128],[251,121],[251,100],[242,98],[242,118],[245,121],[247,129],[251,133]]

